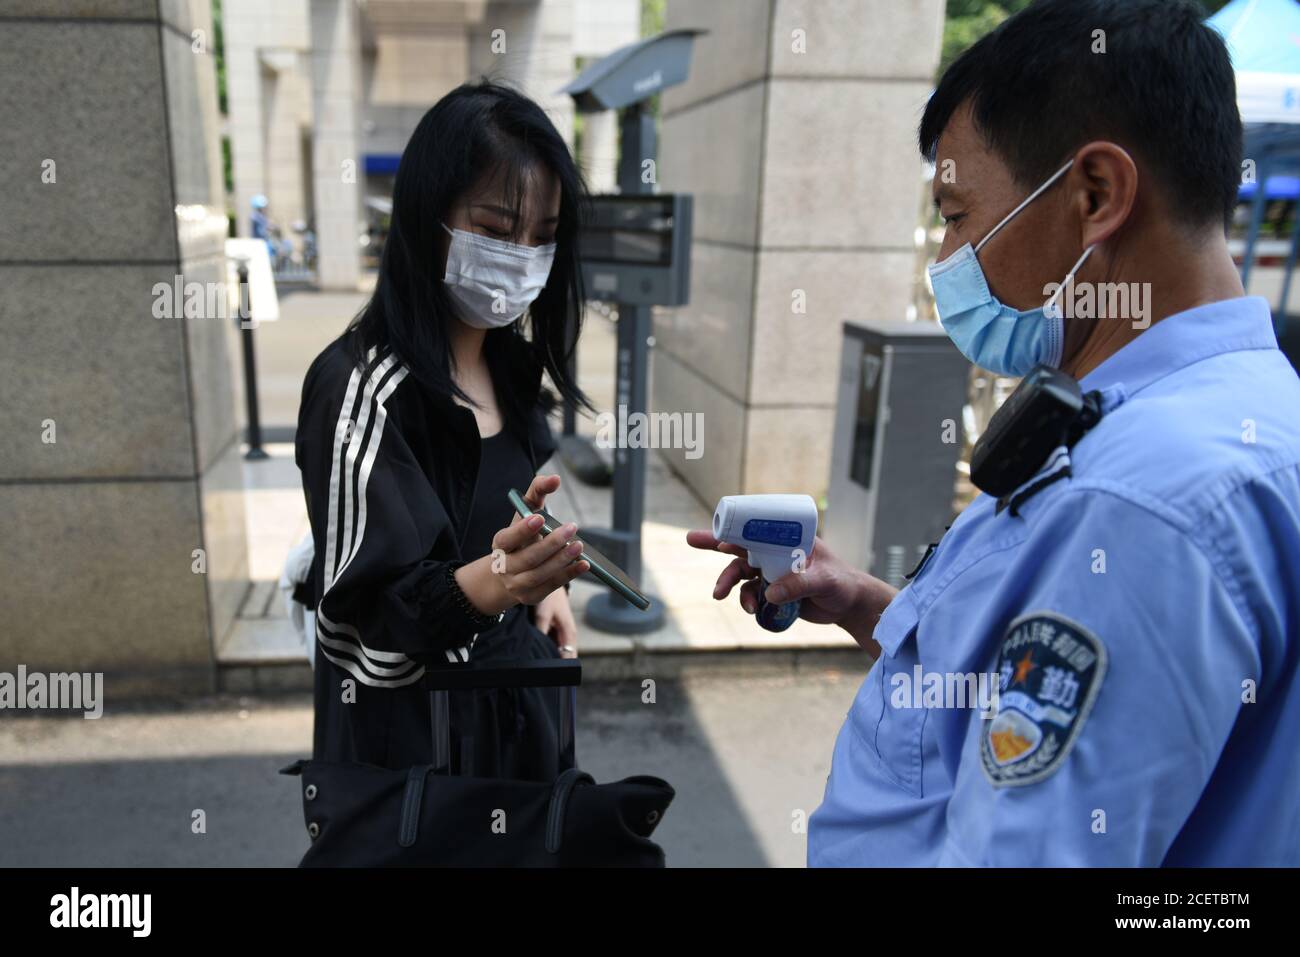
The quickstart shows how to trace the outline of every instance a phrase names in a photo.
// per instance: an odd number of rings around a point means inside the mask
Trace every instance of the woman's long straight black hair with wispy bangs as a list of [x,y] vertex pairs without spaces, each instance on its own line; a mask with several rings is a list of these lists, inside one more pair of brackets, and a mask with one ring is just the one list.
[[[391,350],[426,389],[472,402],[451,376],[447,324],[454,321],[455,306],[439,272],[446,235],[441,224],[467,191],[493,174],[500,177],[504,202],[521,229],[524,191],[538,169],[552,173],[560,186],[551,273],[528,311],[532,337],[523,334],[523,321],[489,329],[484,352],[506,424],[516,432],[525,428],[533,397],[511,384],[533,381],[538,367],[550,374],[560,395],[580,408],[593,408],[568,369],[582,321],[577,230],[586,208],[586,185],[541,107],[489,79],[459,86],[438,100],[402,153],[374,295],[346,333],[359,363],[372,347],[381,354]],[[569,324],[572,339],[567,335]],[[538,398],[546,407],[554,403],[546,389]]]

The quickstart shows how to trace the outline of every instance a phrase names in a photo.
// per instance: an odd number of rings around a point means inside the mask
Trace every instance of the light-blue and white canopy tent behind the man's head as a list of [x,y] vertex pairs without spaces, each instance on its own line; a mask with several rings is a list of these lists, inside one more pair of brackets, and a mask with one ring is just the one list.
[[[1242,283],[1254,265],[1264,212],[1269,200],[1300,200],[1300,3],[1296,0],[1232,0],[1208,21],[1227,42],[1236,72],[1236,99],[1245,124],[1245,156],[1254,176],[1242,186],[1251,200],[1251,224],[1242,257]],[[1258,183],[1264,183],[1260,189]],[[1300,250],[1300,213],[1291,235],[1274,309],[1283,337],[1291,277]]]

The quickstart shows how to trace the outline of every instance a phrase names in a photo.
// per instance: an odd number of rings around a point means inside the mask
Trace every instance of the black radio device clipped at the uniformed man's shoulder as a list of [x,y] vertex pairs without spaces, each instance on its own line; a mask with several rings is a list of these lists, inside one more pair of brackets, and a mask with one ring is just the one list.
[[1098,393],[1084,395],[1070,376],[1036,365],[975,443],[971,482],[1002,498],[1032,478],[1054,449],[1074,445],[1100,419]]

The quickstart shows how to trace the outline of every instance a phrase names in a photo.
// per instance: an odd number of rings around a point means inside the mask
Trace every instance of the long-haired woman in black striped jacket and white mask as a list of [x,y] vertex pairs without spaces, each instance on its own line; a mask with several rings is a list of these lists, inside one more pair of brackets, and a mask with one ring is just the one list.
[[[555,447],[543,372],[590,408],[566,365],[582,198],[546,114],[494,83],[447,94],[407,144],[374,295],[303,384],[316,759],[429,762],[416,657],[576,654],[576,529],[540,537],[506,492],[540,507],[559,488],[536,476]],[[556,759],[554,693],[455,693],[451,707],[452,758],[472,740],[478,776],[549,779],[572,763]]]

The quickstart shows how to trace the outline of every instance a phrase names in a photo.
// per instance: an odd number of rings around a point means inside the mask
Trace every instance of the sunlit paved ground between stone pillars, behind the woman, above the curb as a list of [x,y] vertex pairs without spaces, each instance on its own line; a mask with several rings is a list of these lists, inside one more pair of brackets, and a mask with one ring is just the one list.
[[[260,398],[265,424],[273,436],[283,432],[277,426],[291,426],[296,420],[298,394],[307,365],[363,303],[360,294],[289,294],[281,303],[283,319],[257,330]],[[593,311],[578,352],[578,381],[599,410],[614,406],[614,324]],[[578,432],[594,436],[595,423],[580,419]],[[304,661],[274,581],[285,555],[308,531],[307,516],[292,445],[270,443],[266,450],[272,455],[269,460],[244,464],[252,583],[233,632],[220,645],[218,658],[229,666]],[[612,489],[582,485],[568,475],[559,456],[552,458],[545,471],[555,471],[562,477],[560,492],[550,506],[556,516],[577,521],[580,528],[608,525]],[[711,516],[711,505],[706,507],[699,502],[658,454],[651,452],[642,525],[646,579],[642,584],[663,599],[666,624],[659,631],[632,637],[595,631],[582,622],[582,610],[603,585],[581,579],[573,585],[572,599],[584,658],[597,664],[597,657],[623,657],[627,667],[606,662],[604,674],[630,676],[640,667],[634,662],[646,654],[855,651],[857,646],[838,628],[797,622],[786,632],[771,635],[740,609],[734,594],[724,602],[714,601],[712,583],[727,559],[692,549],[685,542],[686,531],[707,528]]]

